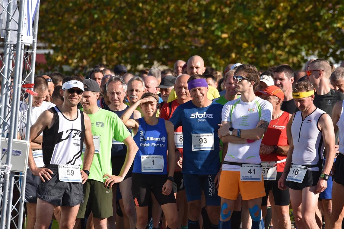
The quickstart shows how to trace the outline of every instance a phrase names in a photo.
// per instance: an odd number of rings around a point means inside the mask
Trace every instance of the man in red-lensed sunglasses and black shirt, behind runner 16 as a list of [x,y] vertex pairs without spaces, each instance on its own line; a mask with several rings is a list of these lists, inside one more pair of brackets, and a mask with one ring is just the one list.
[[[306,80],[313,83],[316,93],[313,103],[319,109],[325,111],[332,117],[332,110],[336,102],[344,100],[344,94],[335,91],[330,85],[331,73],[335,70],[327,60],[317,59],[311,62],[306,71]],[[336,137],[336,143],[337,141]],[[325,163],[325,158],[324,158]],[[327,188],[320,193],[320,198],[324,208],[325,224],[329,225],[332,211],[332,179],[327,180]]]

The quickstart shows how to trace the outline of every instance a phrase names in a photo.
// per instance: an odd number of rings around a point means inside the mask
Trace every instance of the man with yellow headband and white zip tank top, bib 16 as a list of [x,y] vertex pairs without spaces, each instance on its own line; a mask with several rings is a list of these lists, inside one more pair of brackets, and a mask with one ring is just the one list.
[[[315,220],[315,209],[319,193],[327,187],[326,180],[329,179],[334,160],[334,129],[331,117],[313,104],[312,83],[296,83],[293,87],[293,98],[300,111],[292,116],[292,139],[278,187],[283,190],[289,187],[298,227],[319,228]],[[321,174],[319,167],[323,145],[328,160]]]

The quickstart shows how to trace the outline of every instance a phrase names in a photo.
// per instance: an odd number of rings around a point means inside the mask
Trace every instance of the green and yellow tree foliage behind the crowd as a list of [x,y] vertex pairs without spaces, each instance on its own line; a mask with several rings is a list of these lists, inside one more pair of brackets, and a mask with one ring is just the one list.
[[103,62],[135,71],[196,54],[218,69],[298,69],[309,55],[343,60],[343,15],[342,1],[41,1],[38,36],[55,69]]

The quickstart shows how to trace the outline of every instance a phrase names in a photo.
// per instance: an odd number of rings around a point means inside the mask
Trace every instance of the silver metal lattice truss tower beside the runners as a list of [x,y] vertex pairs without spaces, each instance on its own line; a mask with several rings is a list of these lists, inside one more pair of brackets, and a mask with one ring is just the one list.
[[[6,161],[3,146],[0,154],[0,228],[23,228],[26,172],[12,171],[11,158],[13,139],[29,138],[32,96],[27,103],[23,98],[30,89],[25,85],[34,80],[39,1],[0,0],[0,16],[0,135],[7,141]],[[20,109],[21,103],[27,108]]]

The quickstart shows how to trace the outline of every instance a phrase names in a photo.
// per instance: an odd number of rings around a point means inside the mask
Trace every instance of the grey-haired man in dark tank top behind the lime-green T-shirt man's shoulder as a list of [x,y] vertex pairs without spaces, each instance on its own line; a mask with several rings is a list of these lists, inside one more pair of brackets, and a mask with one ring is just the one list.
[[[134,82],[135,83],[135,82]],[[121,76],[112,76],[108,82],[106,83],[106,91],[107,95],[110,100],[110,104],[106,107],[104,107],[104,110],[112,111],[120,117],[128,108],[129,106],[123,103],[124,98],[127,95],[127,84],[124,82],[123,78]],[[141,96],[140,96],[141,98]],[[140,118],[141,114],[139,111],[134,111],[131,118],[137,119]],[[131,130],[128,129],[131,133]],[[118,142],[115,140],[112,140],[112,147],[111,147],[111,161],[112,161],[112,174],[118,175],[120,173],[120,170],[125,162],[127,154],[127,147],[122,142]],[[124,209],[124,217],[128,218],[129,225],[125,225],[125,228],[135,228],[136,226],[136,210],[135,210],[135,204],[133,201],[132,193],[131,193],[131,176],[132,176],[132,166],[123,179],[122,182],[120,182],[119,189],[122,194],[122,200]],[[116,190],[117,190],[117,184],[112,189],[113,190],[113,199],[116,199]],[[116,202],[114,202],[116,203]],[[114,210],[114,216],[116,216],[116,204],[112,206]],[[108,219],[109,224],[114,225],[115,223],[115,217],[110,217]],[[127,220],[124,220],[126,223]]]

